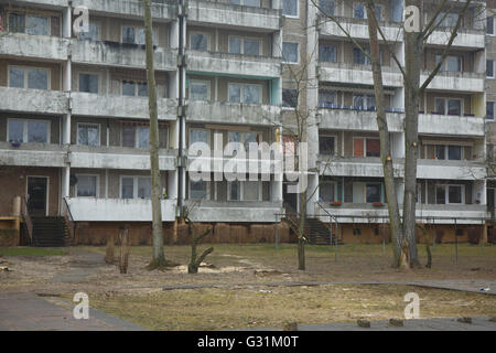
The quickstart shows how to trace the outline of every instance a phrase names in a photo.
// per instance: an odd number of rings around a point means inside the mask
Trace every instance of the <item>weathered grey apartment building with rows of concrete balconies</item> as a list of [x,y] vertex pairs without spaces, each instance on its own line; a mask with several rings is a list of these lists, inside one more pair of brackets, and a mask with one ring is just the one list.
[[[98,243],[96,234],[117,232],[126,223],[136,243],[149,243],[140,1],[0,4],[0,216],[11,215],[13,200],[21,196],[34,220],[64,217],[76,242]],[[468,229],[484,228],[490,205],[484,119],[490,107],[485,73],[490,35],[489,22],[481,20],[484,4],[471,6],[419,107],[418,217],[440,240],[466,240]],[[367,45],[360,2],[321,0],[320,6]],[[79,35],[73,31],[77,7],[89,10],[89,31]],[[281,218],[288,210],[302,207],[289,192],[293,182],[272,161],[256,180],[229,181],[216,173],[215,156],[202,154],[209,178],[198,181],[191,178],[196,154],[190,149],[195,142],[220,150],[228,142],[268,142],[283,149],[291,141],[284,131],[294,128],[298,106],[309,113],[308,216],[338,224],[334,234],[345,243],[382,242],[387,200],[374,83],[366,56],[353,42],[311,1],[154,0],[152,7],[168,240],[176,242],[181,232],[175,221],[186,210],[192,220],[213,225],[214,233],[219,229],[212,240],[289,239]],[[405,88],[390,51],[405,60],[402,9],[401,0],[377,6],[389,39],[381,43],[381,60],[399,195]],[[424,11],[427,20],[431,13]],[[446,15],[427,43],[422,79],[439,60],[453,19]],[[295,71],[311,83],[304,89],[295,84]],[[247,173],[249,163],[247,158]]]

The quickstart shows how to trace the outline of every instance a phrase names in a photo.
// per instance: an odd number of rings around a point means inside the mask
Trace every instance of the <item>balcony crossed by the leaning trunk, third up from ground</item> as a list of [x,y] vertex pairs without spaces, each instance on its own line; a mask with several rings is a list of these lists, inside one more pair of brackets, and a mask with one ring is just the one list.
[[[376,116],[376,111],[352,110],[352,107],[320,108],[319,129],[378,131]],[[403,131],[403,114],[387,113],[386,116],[390,132]]]

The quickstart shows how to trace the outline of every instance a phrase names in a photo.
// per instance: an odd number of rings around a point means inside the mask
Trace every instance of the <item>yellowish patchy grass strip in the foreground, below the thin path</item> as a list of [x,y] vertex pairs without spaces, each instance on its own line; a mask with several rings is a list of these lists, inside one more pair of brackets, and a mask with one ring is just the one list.
[[420,315],[496,314],[496,297],[411,286],[196,289],[148,296],[90,295],[90,304],[151,330],[222,330],[402,318],[405,295],[420,296]]

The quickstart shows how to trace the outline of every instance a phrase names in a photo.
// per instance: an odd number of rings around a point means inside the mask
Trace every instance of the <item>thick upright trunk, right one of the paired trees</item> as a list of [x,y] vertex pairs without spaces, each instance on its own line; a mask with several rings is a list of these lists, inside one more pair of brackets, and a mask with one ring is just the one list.
[[[407,6],[418,6],[419,1],[409,0]],[[408,250],[407,259],[411,267],[420,266],[416,243],[416,203],[417,203],[417,159],[419,154],[419,87],[420,57],[422,52],[421,34],[405,33],[405,191],[403,191],[403,236]]]

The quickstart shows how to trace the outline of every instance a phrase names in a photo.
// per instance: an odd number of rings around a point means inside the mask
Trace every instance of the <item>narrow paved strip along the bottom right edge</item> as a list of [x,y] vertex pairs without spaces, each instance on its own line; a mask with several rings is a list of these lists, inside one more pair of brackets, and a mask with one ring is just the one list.
[[[405,320],[402,328],[390,327],[388,321],[374,321],[370,329],[364,329],[356,322],[330,324],[302,324],[299,331],[496,331],[496,322],[488,317],[472,318],[472,323],[457,322],[456,319]],[[240,331],[282,331],[282,328],[254,328]]]

